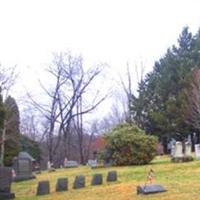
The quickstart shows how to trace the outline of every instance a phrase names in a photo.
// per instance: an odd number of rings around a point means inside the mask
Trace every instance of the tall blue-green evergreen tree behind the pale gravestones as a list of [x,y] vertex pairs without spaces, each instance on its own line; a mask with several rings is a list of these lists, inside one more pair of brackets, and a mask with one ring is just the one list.
[[183,140],[189,133],[186,123],[187,92],[192,71],[200,62],[199,34],[184,28],[178,47],[172,46],[153,71],[140,83],[139,96],[132,100],[135,122],[166,143],[169,137]]

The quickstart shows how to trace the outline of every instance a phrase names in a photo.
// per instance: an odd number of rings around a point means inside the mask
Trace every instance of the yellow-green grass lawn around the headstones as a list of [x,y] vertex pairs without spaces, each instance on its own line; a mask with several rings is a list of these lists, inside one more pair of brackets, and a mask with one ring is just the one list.
[[[168,191],[153,195],[137,195],[137,185],[143,185],[149,169],[156,173],[155,183],[162,184]],[[106,182],[108,171],[118,172],[118,181]],[[91,178],[95,173],[103,174],[103,185],[91,186]],[[83,189],[72,189],[76,175],[86,176],[86,187]],[[58,177],[68,177],[69,190],[66,192],[55,192]],[[40,180],[49,180],[51,194],[36,196],[37,183]],[[171,163],[166,156],[157,157],[149,165],[109,167],[90,169],[79,167],[71,169],[58,169],[56,172],[46,171],[37,175],[35,180],[23,181],[12,184],[12,192],[15,192],[16,200],[198,200],[200,199],[200,161],[188,163]]]

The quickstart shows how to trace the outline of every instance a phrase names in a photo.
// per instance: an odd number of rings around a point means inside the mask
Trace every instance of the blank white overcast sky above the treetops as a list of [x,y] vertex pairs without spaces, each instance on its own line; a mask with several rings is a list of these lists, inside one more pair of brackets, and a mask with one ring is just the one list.
[[22,85],[34,89],[52,52],[120,72],[142,61],[149,71],[184,26],[197,32],[199,8],[198,0],[0,0],[0,62],[17,65]]

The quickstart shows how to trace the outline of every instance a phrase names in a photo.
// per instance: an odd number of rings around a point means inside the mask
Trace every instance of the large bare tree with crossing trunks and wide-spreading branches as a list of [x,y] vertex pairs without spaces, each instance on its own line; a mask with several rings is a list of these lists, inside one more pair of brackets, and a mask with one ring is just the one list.
[[[92,87],[96,77],[101,73],[102,66],[84,70],[81,56],[72,56],[69,53],[60,53],[54,56],[53,65],[48,69],[54,78],[53,90],[47,89],[40,83],[48,97],[48,104],[35,101],[29,95],[34,106],[42,113],[48,126],[45,131],[48,144],[49,160],[53,160],[61,139],[65,146],[65,156],[68,154],[67,142],[70,140],[70,125],[73,119],[78,123],[79,146],[82,149],[83,115],[93,111],[106,96],[89,96],[88,90]],[[98,91],[97,91],[98,93]],[[83,101],[90,98],[89,105]],[[55,137],[57,137],[56,142]],[[81,151],[80,151],[81,153]]]

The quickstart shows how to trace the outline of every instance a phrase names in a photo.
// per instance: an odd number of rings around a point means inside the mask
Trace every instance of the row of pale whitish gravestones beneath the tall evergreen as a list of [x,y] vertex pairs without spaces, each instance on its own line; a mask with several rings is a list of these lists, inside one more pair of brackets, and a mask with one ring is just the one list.
[[[182,142],[176,142],[175,145],[172,146],[171,156],[175,158],[181,157],[190,157],[192,156],[192,145],[189,142],[185,143],[185,152],[183,152]],[[195,145],[195,157],[196,159],[200,159],[200,144]]]

